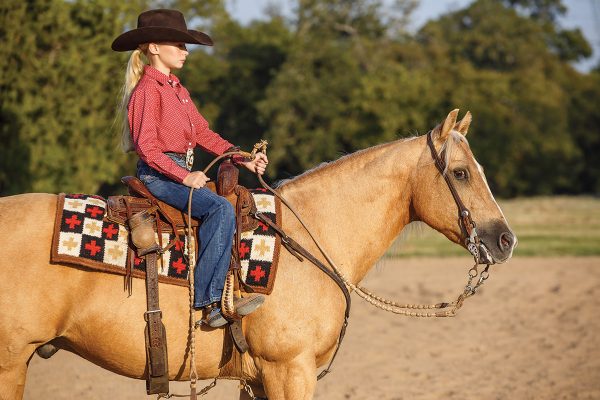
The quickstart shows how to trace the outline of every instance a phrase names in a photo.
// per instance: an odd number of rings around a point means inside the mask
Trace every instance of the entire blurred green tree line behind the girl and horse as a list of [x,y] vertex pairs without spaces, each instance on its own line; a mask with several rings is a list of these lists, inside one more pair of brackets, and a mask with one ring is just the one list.
[[471,110],[472,147],[502,196],[600,193],[600,73],[561,0],[477,0],[411,33],[416,0],[297,0],[241,25],[224,0],[26,0],[0,5],[0,194],[108,194],[132,173],[113,125],[127,54],[110,50],[148,8],[178,8],[214,48],[179,73],[217,132],[270,140],[271,178],[425,132]]

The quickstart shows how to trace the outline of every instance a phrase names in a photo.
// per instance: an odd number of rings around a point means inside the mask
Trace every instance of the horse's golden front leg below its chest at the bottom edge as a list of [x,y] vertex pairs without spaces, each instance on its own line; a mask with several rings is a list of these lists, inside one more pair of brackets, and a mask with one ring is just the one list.
[[261,362],[262,382],[269,400],[310,400],[317,373],[314,355],[299,355],[285,362]]

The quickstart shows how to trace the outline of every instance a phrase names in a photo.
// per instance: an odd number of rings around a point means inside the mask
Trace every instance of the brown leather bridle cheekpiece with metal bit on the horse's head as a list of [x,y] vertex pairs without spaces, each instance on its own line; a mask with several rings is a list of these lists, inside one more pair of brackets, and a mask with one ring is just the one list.
[[[433,145],[433,131],[429,131],[429,133],[427,133],[427,146],[431,151],[431,157],[435,162],[435,166],[440,172],[440,175],[446,180],[448,189],[450,189],[450,193],[454,198],[456,207],[458,207],[458,225],[465,236],[465,245],[467,250],[469,250],[469,253],[473,255],[476,265],[489,265],[492,261],[491,256],[485,245],[479,240],[479,236],[477,235],[477,225],[475,224],[475,221],[473,221],[473,218],[471,218],[471,212],[460,199],[456,187],[454,187],[454,183],[452,180],[450,180],[450,176],[446,173],[447,165],[444,161],[444,153],[446,150],[443,150],[441,155],[438,155],[437,151],[435,150],[435,146]],[[486,260],[482,260],[482,253],[485,255]]]

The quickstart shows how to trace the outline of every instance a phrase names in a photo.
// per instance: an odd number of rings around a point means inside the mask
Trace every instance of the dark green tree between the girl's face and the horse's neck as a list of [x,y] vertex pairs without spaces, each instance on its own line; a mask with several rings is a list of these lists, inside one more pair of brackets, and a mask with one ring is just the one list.
[[291,34],[280,17],[246,27],[227,20],[214,28],[214,49],[195,51],[182,79],[211,127],[248,149],[268,129],[257,105],[287,58]]

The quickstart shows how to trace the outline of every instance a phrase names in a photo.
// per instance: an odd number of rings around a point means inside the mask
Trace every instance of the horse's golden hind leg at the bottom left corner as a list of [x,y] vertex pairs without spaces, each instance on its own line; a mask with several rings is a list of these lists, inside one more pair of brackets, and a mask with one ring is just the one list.
[[[4,347],[4,346],[3,346]],[[10,343],[0,351],[0,400],[21,400],[25,390],[27,366],[35,345],[22,348]]]

